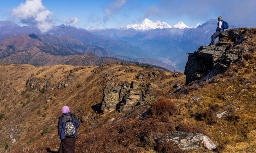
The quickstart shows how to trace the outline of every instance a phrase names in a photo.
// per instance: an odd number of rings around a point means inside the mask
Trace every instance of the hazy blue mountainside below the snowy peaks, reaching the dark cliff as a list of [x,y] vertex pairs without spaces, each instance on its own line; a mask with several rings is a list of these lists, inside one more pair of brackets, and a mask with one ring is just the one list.
[[[217,23],[217,19],[211,19],[203,24],[197,24],[194,28],[185,28],[180,22],[180,28],[156,28],[144,31],[133,28],[112,28],[92,30],[90,33],[105,39],[123,40],[147,52],[151,59],[184,70],[187,62],[186,53],[194,52],[199,45],[208,45]],[[229,28],[234,27],[237,25],[229,23]]]

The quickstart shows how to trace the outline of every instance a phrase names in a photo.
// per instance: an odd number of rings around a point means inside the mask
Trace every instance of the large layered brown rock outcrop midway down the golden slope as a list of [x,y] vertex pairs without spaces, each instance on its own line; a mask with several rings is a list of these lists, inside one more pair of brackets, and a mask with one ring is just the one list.
[[[121,71],[121,69],[119,69]],[[119,71],[118,70],[118,71]],[[126,68],[125,73],[136,73],[136,81],[111,81],[107,82],[103,89],[103,99],[101,103],[101,111],[106,114],[111,111],[127,111],[134,109],[135,106],[145,103],[148,99],[159,96],[161,89],[171,86],[160,85],[159,80],[167,79],[165,72],[162,70],[143,71]],[[111,72],[107,72],[105,77],[109,77]],[[178,77],[179,72],[173,73],[168,77]],[[158,80],[158,81],[157,81]]]

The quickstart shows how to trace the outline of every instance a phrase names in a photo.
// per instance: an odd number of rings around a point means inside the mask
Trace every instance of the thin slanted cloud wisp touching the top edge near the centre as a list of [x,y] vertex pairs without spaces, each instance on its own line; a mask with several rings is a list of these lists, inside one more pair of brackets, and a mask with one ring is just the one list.
[[107,21],[109,16],[117,13],[127,1],[128,0],[114,0],[114,2],[112,2],[109,5],[109,7],[104,10],[104,12],[105,12],[104,20]]

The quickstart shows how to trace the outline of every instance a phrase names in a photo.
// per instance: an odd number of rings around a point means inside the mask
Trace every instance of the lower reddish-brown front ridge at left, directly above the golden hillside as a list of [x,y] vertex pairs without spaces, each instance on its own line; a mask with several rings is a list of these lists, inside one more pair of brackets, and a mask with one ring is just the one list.
[[[30,48],[12,53],[7,57],[0,58],[1,63],[31,64],[36,66],[52,66],[57,64],[69,64],[75,66],[101,65],[104,59],[92,53],[83,55],[58,55],[52,48],[32,46]],[[62,52],[65,53],[65,52]]]

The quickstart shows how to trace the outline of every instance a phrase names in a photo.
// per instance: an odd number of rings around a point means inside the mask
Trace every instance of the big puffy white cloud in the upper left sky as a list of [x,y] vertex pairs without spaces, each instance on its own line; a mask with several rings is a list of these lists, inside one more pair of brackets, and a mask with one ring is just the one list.
[[52,28],[49,15],[53,13],[46,9],[42,0],[26,0],[25,3],[20,3],[18,7],[14,8],[12,14],[23,24],[36,25],[42,33]]

